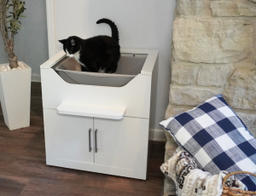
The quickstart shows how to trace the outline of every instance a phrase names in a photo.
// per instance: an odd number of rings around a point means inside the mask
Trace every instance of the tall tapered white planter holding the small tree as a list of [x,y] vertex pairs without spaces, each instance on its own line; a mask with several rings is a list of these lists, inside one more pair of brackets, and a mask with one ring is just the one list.
[[30,126],[31,67],[24,65],[26,69],[0,72],[0,101],[9,130]]

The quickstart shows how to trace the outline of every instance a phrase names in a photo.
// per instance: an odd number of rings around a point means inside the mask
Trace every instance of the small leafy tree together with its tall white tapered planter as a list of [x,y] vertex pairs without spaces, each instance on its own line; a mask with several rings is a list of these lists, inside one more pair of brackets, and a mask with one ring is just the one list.
[[9,57],[9,63],[0,65],[0,101],[9,130],[30,125],[31,68],[14,53],[24,6],[20,0],[0,0],[0,32]]

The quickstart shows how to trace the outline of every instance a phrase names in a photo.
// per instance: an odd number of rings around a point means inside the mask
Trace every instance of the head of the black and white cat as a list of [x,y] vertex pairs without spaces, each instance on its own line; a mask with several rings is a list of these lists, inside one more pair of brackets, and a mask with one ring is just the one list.
[[81,39],[76,36],[68,37],[67,39],[59,40],[63,44],[63,49],[67,56],[73,57],[81,48]]

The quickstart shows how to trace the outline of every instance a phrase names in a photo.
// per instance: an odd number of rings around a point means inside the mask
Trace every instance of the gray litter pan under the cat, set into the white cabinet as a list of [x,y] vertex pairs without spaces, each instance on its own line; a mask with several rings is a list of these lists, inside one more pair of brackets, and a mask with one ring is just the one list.
[[81,72],[79,62],[73,58],[61,61],[54,68],[69,84],[121,87],[141,73],[147,56],[122,54],[115,73]]

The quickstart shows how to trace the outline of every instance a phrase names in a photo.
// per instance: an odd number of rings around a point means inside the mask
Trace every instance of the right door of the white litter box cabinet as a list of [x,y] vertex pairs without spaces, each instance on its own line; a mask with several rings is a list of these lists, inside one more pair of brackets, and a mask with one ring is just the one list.
[[147,170],[148,119],[95,118],[95,164],[127,170]]

